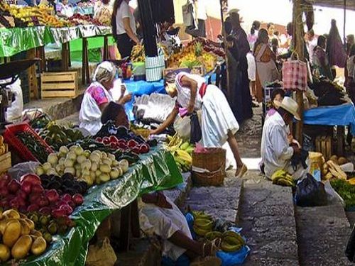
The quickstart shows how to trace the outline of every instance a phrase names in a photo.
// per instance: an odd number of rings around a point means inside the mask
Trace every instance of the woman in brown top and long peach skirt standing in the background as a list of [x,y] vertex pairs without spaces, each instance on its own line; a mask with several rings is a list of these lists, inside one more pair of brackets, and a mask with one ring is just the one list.
[[266,82],[274,82],[278,79],[276,55],[268,43],[268,31],[263,28],[258,33],[253,53],[256,61],[256,99],[261,102],[263,86]]

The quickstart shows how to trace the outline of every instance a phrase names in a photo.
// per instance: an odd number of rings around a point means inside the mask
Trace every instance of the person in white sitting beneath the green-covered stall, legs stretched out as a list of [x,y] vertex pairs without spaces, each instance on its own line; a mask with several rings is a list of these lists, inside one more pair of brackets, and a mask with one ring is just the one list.
[[221,240],[193,240],[185,216],[162,192],[143,194],[141,199],[141,229],[163,240],[162,265],[221,265],[214,256]]

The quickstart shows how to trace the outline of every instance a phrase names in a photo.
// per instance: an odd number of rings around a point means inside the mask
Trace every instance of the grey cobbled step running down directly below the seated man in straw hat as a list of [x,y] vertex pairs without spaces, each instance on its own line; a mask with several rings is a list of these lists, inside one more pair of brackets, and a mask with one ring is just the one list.
[[244,265],[288,265],[298,263],[293,194],[249,171],[241,198],[241,232],[251,248]]

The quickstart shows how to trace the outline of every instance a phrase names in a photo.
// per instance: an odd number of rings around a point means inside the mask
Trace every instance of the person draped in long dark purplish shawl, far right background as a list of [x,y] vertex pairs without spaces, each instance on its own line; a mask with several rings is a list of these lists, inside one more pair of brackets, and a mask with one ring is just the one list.
[[332,19],[329,35],[327,38],[327,54],[329,56],[329,65],[332,67],[333,77],[337,77],[335,66],[344,68],[346,66],[346,51],[340,38],[337,28],[337,21]]

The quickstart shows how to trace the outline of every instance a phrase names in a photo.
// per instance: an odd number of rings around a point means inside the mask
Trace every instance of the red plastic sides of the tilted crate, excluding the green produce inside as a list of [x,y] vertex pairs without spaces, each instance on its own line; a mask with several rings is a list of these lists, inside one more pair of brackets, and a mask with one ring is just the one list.
[[19,157],[27,161],[37,161],[37,158],[28,150],[27,146],[17,138],[16,134],[21,132],[28,132],[33,135],[33,138],[36,138],[43,146],[45,146],[48,153],[53,153],[52,148],[45,143],[45,141],[40,138],[40,136],[35,133],[33,128],[31,128],[28,123],[18,123],[13,125],[6,126],[6,131],[4,133],[4,141],[8,143],[11,148],[16,151]]

